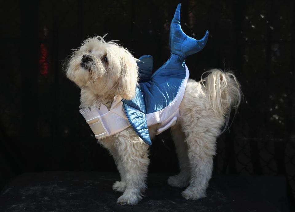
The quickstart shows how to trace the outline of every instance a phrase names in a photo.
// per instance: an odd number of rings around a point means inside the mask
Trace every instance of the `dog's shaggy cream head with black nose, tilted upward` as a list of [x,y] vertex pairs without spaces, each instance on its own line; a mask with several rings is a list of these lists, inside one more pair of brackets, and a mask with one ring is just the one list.
[[97,95],[114,92],[132,99],[138,80],[137,59],[114,42],[100,36],[84,40],[66,66],[67,77],[80,88],[88,86]]

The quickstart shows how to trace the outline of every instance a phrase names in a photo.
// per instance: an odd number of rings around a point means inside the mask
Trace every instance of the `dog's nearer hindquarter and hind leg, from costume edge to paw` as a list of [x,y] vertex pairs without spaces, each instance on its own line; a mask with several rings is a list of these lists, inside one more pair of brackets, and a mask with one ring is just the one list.
[[187,143],[187,155],[191,168],[190,184],[182,192],[185,199],[206,196],[206,188],[213,169],[216,138],[221,132],[224,117],[216,116],[207,108],[205,89],[189,80],[179,107],[179,123]]

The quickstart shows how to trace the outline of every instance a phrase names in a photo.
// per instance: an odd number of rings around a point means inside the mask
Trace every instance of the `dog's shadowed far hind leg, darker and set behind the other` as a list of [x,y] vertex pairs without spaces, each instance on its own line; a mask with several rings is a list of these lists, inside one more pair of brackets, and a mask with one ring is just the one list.
[[180,124],[171,127],[171,135],[178,156],[180,173],[169,177],[167,182],[171,186],[180,188],[187,187],[191,176],[191,170],[187,155],[187,143],[185,142],[185,136],[181,130]]

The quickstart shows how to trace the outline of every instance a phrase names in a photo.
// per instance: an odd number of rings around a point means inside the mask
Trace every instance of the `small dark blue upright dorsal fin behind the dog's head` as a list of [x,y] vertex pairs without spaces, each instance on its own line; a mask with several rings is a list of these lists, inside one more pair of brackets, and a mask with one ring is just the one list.
[[153,70],[153,57],[151,55],[143,55],[137,62],[139,68],[139,82],[147,82],[151,79]]

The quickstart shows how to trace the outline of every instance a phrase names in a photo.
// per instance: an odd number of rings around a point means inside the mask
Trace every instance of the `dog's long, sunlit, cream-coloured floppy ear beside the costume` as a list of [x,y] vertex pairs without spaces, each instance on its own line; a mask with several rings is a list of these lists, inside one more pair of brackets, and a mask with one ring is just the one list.
[[135,90],[138,84],[138,66],[137,59],[125,49],[121,55],[121,69],[117,93],[123,99],[130,100],[135,97]]

